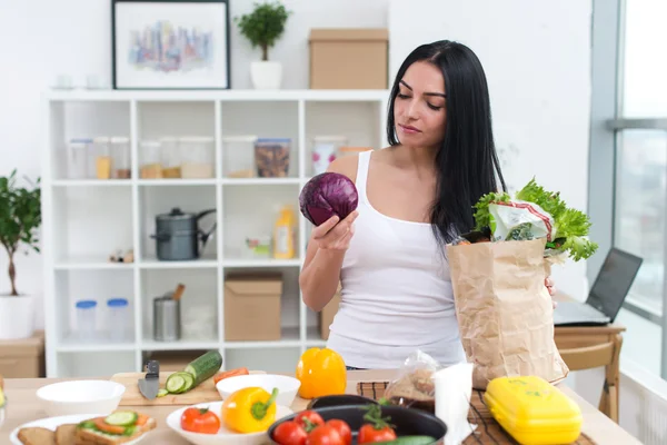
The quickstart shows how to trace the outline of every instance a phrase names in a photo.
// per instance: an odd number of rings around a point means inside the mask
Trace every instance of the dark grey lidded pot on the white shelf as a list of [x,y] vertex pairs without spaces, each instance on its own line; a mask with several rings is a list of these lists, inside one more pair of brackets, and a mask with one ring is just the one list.
[[211,229],[205,233],[199,228],[199,220],[215,211],[216,209],[209,209],[199,214],[188,214],[175,207],[169,214],[158,215],[156,234],[150,236],[156,239],[158,259],[163,261],[198,259],[217,225],[213,224]]

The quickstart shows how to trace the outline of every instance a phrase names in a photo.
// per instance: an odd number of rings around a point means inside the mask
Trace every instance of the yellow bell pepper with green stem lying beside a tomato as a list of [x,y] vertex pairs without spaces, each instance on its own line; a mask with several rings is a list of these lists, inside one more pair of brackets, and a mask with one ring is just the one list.
[[276,397],[260,387],[248,387],[232,393],[222,403],[220,419],[229,429],[237,433],[261,433],[276,422]]

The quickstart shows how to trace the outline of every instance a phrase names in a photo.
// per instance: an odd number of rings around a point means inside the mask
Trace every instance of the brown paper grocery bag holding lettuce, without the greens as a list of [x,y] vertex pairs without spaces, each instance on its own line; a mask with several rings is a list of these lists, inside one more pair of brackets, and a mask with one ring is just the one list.
[[496,377],[535,375],[557,383],[569,373],[554,342],[545,244],[542,238],[447,247],[476,389],[486,389]]

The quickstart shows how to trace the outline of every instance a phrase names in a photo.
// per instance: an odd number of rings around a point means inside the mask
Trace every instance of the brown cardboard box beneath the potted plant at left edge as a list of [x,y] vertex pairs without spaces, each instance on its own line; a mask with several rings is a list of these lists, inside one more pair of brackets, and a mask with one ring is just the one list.
[[36,330],[30,338],[0,340],[0,375],[4,378],[40,378],[46,374],[43,330]]

